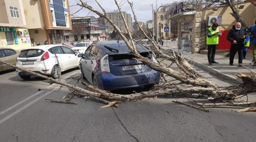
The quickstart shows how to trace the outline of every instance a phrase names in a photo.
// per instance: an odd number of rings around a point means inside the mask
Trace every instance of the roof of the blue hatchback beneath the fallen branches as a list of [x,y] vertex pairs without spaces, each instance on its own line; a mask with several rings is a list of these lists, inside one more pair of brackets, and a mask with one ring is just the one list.
[[[125,41],[123,40],[119,40],[117,42],[117,40],[115,41],[98,41],[98,42],[94,42],[95,44],[99,45],[105,53],[107,53],[108,55],[115,55],[115,54],[123,54],[123,53],[131,53],[130,49],[127,47]],[[115,52],[110,51],[108,48],[109,47],[114,49]],[[150,52],[151,50],[144,47],[141,44],[136,44],[135,46],[137,47],[137,51],[138,52]],[[116,52],[118,51],[118,52]]]

